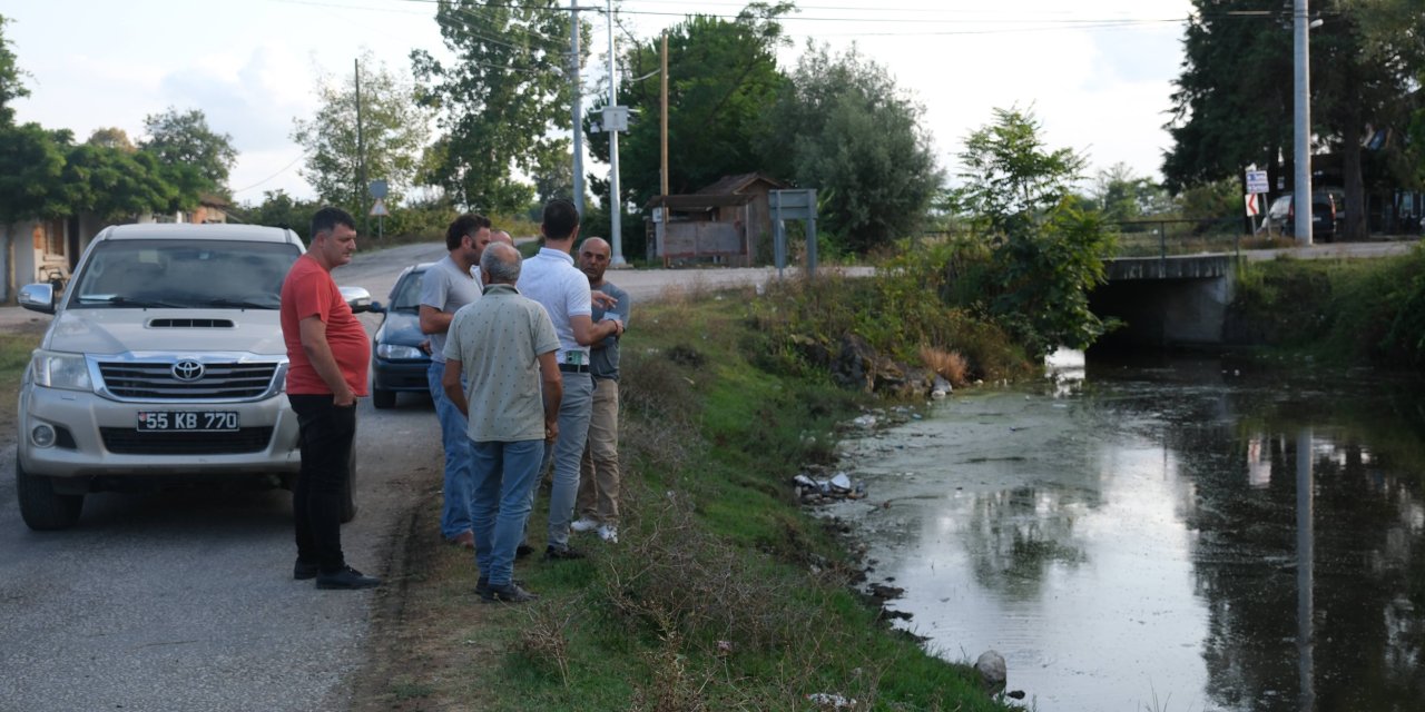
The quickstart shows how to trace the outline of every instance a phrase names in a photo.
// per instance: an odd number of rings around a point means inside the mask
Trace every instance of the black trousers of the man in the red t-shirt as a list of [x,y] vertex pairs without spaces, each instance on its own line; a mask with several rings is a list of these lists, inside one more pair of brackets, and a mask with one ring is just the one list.
[[338,407],[332,396],[286,399],[301,429],[302,470],[292,487],[296,558],[315,562],[323,574],[346,567],[342,555],[342,500],[346,468],[356,439],[356,404]]

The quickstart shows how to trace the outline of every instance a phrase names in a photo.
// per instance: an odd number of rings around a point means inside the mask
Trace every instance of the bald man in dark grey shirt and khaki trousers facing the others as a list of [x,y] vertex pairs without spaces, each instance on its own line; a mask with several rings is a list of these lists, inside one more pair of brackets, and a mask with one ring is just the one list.
[[[628,329],[633,302],[628,293],[604,279],[608,269],[608,242],[589,238],[579,246],[579,269],[589,276],[589,286],[614,299],[604,309],[594,303],[591,319],[617,319]],[[594,379],[593,409],[589,416],[589,443],[580,463],[579,521],[574,531],[597,531],[598,538],[618,541],[618,336],[606,336],[589,347],[589,375]]]

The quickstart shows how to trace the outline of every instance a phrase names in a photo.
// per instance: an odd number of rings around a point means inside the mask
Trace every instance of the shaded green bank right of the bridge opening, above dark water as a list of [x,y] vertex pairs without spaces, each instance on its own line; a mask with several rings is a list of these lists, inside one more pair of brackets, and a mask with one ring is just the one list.
[[1325,365],[1425,365],[1425,251],[1238,268],[1228,337]]

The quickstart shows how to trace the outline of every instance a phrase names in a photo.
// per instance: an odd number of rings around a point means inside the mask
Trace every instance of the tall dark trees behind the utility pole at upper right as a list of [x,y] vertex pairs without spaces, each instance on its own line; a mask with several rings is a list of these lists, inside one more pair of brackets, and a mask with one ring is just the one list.
[[[1174,192],[1240,177],[1248,164],[1290,189],[1292,165],[1291,3],[1194,0],[1163,161]],[[1406,137],[1422,107],[1418,0],[1325,0],[1311,30],[1311,144],[1345,188],[1345,236],[1367,229],[1365,195],[1419,188],[1419,147]]]

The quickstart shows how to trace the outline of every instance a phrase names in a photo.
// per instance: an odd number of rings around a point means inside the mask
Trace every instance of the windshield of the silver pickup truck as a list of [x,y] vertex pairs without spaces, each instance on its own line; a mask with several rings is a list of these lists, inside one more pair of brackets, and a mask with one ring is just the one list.
[[278,309],[301,256],[282,242],[133,239],[94,248],[71,308]]

